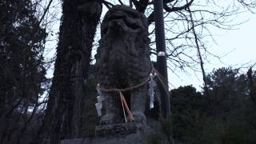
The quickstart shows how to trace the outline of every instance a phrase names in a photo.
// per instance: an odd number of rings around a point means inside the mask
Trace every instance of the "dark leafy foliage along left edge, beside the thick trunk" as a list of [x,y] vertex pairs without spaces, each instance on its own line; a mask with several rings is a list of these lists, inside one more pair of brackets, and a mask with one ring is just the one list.
[[[0,1],[0,143],[22,143],[47,81],[46,30],[30,0]],[[31,130],[30,134],[31,134]]]

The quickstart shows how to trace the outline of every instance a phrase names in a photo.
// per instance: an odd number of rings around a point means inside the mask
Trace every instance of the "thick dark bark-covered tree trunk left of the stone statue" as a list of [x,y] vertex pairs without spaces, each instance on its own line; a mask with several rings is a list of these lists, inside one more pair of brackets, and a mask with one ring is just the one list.
[[102,4],[94,0],[64,0],[62,13],[54,78],[42,126],[42,142],[48,139],[51,144],[81,134],[83,85]]

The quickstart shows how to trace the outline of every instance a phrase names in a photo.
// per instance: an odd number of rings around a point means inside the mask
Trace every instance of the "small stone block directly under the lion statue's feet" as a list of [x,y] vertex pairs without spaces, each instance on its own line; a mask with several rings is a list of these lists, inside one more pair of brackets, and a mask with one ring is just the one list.
[[128,122],[96,126],[95,136],[118,136],[125,134],[141,134],[142,132],[142,124],[136,122]]

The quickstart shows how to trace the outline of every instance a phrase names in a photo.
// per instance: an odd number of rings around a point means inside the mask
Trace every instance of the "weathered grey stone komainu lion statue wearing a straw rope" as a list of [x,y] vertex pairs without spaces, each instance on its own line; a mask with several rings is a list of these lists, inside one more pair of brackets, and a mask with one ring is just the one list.
[[[114,6],[101,26],[96,58],[97,78],[104,89],[124,89],[145,82],[150,75],[148,23],[144,14],[129,6]],[[147,82],[124,92],[135,122],[146,123]],[[101,124],[123,122],[118,92],[104,92],[106,114]]]

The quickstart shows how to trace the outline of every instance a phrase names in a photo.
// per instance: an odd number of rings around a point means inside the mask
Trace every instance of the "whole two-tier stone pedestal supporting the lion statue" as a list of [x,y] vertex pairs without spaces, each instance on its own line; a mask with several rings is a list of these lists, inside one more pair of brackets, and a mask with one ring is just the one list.
[[136,122],[96,126],[94,138],[64,139],[61,144],[146,144],[142,124]]

